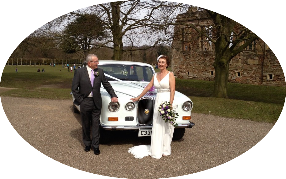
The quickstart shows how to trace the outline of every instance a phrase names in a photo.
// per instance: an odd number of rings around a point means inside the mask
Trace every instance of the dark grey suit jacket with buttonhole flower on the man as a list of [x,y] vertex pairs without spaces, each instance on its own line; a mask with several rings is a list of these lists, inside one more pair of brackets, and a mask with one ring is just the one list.
[[93,101],[98,109],[102,107],[102,100],[100,94],[100,86],[103,85],[104,89],[109,93],[110,97],[117,97],[112,86],[105,78],[103,69],[96,68],[94,72],[98,72],[99,75],[95,76],[93,86],[91,85],[87,67],[79,68],[75,71],[74,78],[72,80],[71,91],[75,97],[74,104],[80,105],[83,98],[87,97],[91,91],[93,91]]

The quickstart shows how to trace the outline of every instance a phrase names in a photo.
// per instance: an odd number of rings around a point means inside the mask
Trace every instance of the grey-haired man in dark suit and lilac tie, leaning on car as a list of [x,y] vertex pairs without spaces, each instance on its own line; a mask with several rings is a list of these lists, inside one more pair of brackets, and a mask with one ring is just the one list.
[[[71,90],[75,97],[74,103],[80,105],[82,139],[84,150],[90,151],[93,147],[94,154],[99,155],[99,117],[101,113],[101,83],[111,97],[111,102],[117,102],[115,92],[105,78],[103,70],[98,68],[98,57],[94,54],[87,55],[86,66],[75,71]],[[92,122],[92,139],[90,138],[90,122]]]

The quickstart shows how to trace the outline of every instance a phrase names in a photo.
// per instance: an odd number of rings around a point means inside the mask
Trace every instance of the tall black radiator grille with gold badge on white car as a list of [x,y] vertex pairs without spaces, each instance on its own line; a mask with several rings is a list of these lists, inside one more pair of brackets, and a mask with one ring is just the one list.
[[[153,113],[154,113],[154,101],[156,94],[147,93],[138,101],[138,124],[140,125],[152,125],[153,123]],[[149,110],[148,115],[144,112]]]

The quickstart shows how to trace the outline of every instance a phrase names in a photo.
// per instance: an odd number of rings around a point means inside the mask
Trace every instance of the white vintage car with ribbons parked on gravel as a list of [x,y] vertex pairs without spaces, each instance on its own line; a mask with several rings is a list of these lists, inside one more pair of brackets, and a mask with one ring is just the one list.
[[[81,67],[84,67],[83,63]],[[110,140],[112,131],[136,130],[138,136],[151,136],[156,89],[149,91],[140,100],[132,102],[130,98],[137,97],[152,79],[154,68],[146,63],[100,60],[98,68],[104,70],[118,102],[111,102],[110,95],[101,86],[102,111],[100,116],[100,143]],[[74,96],[73,101],[75,100]],[[191,110],[193,102],[180,92],[175,92],[175,99],[179,101],[176,113],[179,114],[176,122],[178,127],[174,130],[173,139],[181,139],[185,128],[192,128]],[[147,113],[146,111],[149,111]],[[80,107],[74,104],[74,112],[79,113]],[[162,119],[163,120],[163,119]]]

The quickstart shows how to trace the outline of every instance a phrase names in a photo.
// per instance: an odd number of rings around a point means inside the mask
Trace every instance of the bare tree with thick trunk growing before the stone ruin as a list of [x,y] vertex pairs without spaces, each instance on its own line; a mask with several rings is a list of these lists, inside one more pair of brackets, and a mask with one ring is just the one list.
[[[192,18],[193,23],[188,23],[188,18]],[[205,23],[202,24],[199,19],[203,19]],[[227,83],[231,59],[246,47],[251,46],[259,37],[233,19],[203,8],[191,7],[187,13],[178,16],[176,24],[184,27],[181,33],[175,34],[177,38],[178,36],[182,38],[183,47],[179,48],[187,50],[189,48],[187,44],[198,39],[200,39],[200,48],[204,48],[204,50],[211,48],[212,44],[215,46],[213,66],[216,77],[212,97],[228,98]],[[186,28],[192,28],[197,32],[196,35],[188,38],[188,32],[184,32]]]

